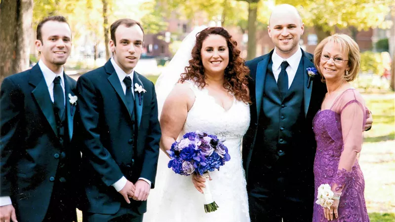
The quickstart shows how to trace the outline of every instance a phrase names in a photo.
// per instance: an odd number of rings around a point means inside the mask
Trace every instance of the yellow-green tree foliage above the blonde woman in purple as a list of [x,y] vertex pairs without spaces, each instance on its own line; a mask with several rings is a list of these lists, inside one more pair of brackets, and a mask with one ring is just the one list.
[[385,21],[393,0],[277,0],[296,6],[303,22],[314,27],[318,41],[334,34],[336,28],[351,28],[352,33],[369,28],[389,28]]

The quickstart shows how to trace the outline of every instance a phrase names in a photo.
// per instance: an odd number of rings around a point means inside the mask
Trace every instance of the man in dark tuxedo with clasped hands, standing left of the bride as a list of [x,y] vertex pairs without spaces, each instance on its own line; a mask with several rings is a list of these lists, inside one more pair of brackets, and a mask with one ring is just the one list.
[[113,57],[78,79],[84,221],[141,222],[154,188],[161,136],[157,98],[154,84],[133,70],[143,40],[138,22],[117,20],[111,25]]

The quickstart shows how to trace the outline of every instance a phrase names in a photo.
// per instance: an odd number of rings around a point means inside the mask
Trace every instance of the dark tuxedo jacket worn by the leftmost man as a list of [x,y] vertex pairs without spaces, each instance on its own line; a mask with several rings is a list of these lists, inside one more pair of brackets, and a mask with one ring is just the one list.
[[[11,197],[18,221],[43,220],[59,177],[66,179],[62,183],[76,183],[80,152],[70,145],[76,105],[70,104],[68,96],[75,95],[76,81],[66,74],[63,76],[68,128],[63,146],[60,141],[63,138],[58,137],[53,103],[39,65],[8,76],[1,84],[0,195]],[[65,164],[68,169],[61,171],[64,175],[59,175],[62,151],[67,153],[69,162]],[[75,196],[77,189],[68,191]]]

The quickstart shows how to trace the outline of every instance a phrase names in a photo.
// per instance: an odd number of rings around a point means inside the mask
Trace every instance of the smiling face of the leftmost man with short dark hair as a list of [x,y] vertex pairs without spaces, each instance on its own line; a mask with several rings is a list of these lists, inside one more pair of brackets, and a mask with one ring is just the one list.
[[37,50],[41,61],[50,70],[57,73],[66,63],[71,51],[71,30],[67,23],[58,21],[45,22],[41,27],[42,42],[37,39]]

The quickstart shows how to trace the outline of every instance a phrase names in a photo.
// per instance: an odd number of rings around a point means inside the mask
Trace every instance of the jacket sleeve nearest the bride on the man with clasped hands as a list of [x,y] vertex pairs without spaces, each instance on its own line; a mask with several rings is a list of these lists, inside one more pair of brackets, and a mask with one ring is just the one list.
[[155,86],[152,83],[152,100],[150,113],[150,127],[146,138],[144,162],[140,178],[145,178],[151,182],[151,187],[155,187],[155,177],[157,175],[159,140],[161,137],[158,120],[158,102]]

